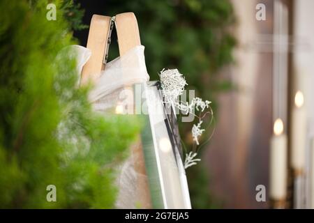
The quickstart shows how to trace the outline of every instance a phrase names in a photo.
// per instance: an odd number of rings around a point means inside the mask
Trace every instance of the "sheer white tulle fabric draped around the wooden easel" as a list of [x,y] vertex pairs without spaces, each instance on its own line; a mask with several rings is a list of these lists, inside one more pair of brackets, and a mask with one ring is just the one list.
[[[82,68],[91,56],[91,51],[78,45],[71,46],[77,56],[77,71]],[[105,70],[100,72],[98,79],[94,82],[93,89],[89,93],[89,100],[94,110],[103,112],[117,105],[121,89],[125,86],[149,81],[149,75],[144,59],[144,46],[139,45],[130,49],[123,56],[106,64]],[[128,159],[119,167],[117,186],[119,194],[116,208],[136,208],[140,191],[137,190],[137,180],[147,179],[146,175],[137,173],[134,167],[134,157]]]

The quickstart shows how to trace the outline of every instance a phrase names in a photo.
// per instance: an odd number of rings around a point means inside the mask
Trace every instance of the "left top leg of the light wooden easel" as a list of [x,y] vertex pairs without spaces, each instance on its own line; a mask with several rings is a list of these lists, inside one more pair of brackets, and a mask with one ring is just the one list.
[[98,78],[101,70],[105,69],[103,57],[107,47],[107,35],[110,28],[110,17],[103,15],[93,15],[89,27],[89,38],[87,48],[91,50],[91,58],[84,65],[82,70],[81,84],[94,82]]

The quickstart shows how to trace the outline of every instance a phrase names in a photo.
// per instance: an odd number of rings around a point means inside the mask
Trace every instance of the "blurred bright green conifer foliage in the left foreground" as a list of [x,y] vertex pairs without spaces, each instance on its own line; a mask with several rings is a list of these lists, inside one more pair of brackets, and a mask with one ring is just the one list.
[[[0,1],[0,208],[112,208],[114,164],[140,126],[91,112],[63,49],[67,11],[57,2],[47,21],[47,2]],[[46,200],[51,184],[57,202]]]

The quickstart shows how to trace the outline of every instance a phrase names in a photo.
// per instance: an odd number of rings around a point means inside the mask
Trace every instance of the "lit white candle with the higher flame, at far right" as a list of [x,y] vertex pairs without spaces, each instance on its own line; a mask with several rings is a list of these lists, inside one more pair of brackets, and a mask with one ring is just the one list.
[[291,165],[297,174],[301,174],[304,170],[306,149],[306,109],[301,91],[297,91],[295,94],[294,105],[292,109]]

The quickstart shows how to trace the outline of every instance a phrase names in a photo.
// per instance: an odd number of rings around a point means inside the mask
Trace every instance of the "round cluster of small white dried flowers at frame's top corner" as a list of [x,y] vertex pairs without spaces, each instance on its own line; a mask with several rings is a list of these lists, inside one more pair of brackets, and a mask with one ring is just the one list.
[[177,104],[179,96],[184,92],[186,79],[177,69],[161,70],[160,86],[167,105]]

